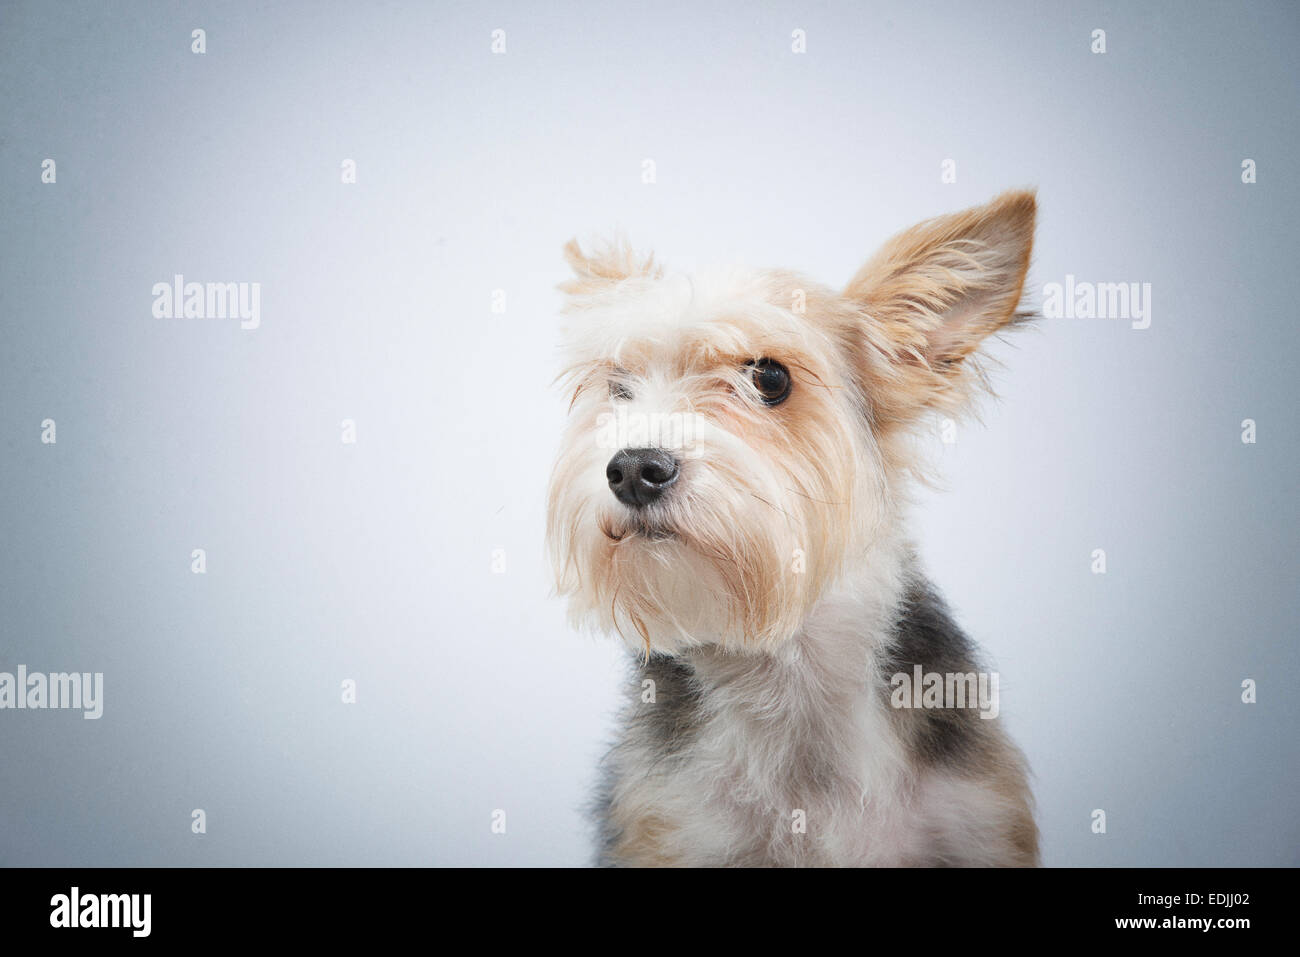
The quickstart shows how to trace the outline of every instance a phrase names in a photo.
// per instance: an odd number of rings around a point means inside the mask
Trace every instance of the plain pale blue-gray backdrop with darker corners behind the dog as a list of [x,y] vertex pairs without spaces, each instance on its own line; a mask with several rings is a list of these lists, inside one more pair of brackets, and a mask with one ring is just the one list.
[[[1048,863],[1296,863],[1297,44],[1294,3],[4,3],[0,670],[107,701],[0,711],[0,862],[586,862],[623,666],[549,594],[560,244],[840,283],[1036,185],[1032,289],[1150,282],[1152,326],[998,347],[922,553]],[[153,319],[174,273],[261,328]]]

